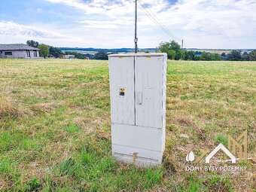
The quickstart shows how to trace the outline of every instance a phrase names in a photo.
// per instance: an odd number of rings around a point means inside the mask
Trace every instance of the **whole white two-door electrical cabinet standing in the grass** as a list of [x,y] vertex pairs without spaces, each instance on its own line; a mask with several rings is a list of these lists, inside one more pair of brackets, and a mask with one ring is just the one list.
[[166,131],[166,53],[108,56],[112,154],[124,163],[162,162]]

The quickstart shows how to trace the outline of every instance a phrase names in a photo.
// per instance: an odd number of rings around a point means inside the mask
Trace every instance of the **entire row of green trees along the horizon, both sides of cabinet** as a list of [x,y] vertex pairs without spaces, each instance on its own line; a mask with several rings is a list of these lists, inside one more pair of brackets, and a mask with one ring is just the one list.
[[[37,47],[40,56],[59,58],[63,54],[74,55],[77,59],[84,59],[89,57],[90,59],[108,60],[108,53],[105,50],[100,50],[94,56],[89,53],[79,53],[78,51],[65,51],[62,52],[58,47],[53,47],[47,44],[39,44],[38,41],[29,40],[26,44],[32,47]],[[168,59],[175,60],[203,60],[203,61],[218,61],[218,60],[230,60],[230,61],[256,61],[256,50],[251,52],[242,53],[241,50],[231,50],[230,53],[208,53],[206,51],[194,51],[183,50],[176,41],[161,42],[157,47],[157,51],[161,53],[167,53]],[[111,54],[111,53],[110,53]]]

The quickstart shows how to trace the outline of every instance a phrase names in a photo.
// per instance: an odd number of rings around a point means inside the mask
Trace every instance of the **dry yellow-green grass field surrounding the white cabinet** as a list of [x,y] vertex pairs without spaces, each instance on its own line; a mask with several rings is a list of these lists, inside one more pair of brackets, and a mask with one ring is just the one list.
[[[256,62],[169,61],[163,166],[111,157],[108,62],[0,59],[0,190],[255,191]],[[185,172],[248,129],[246,172]]]

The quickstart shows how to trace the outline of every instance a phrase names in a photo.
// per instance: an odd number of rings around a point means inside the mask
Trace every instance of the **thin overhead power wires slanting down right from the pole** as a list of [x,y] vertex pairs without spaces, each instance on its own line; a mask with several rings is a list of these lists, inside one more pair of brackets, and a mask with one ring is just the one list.
[[[143,5],[143,4],[144,5]],[[160,26],[160,28],[163,30],[163,32],[166,32],[166,34],[170,35],[172,38],[175,38],[178,41],[181,41],[181,39],[175,37],[172,35],[172,33],[169,31],[169,29],[166,28],[166,26],[163,25],[163,23],[157,18],[157,16],[148,8],[148,5],[145,4],[142,0],[139,0],[139,8],[142,9],[142,11],[145,12],[145,14],[154,22],[157,24],[157,26]]]

